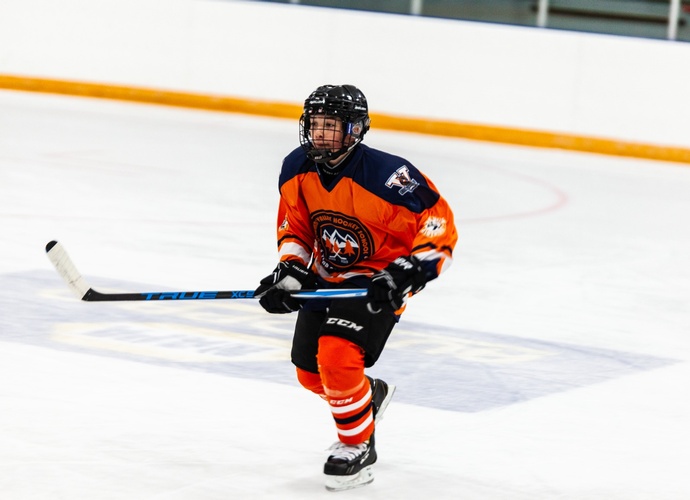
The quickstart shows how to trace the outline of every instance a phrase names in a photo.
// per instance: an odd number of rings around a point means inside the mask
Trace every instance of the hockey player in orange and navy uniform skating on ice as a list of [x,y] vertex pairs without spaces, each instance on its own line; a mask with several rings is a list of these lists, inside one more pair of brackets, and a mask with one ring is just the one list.
[[[375,422],[395,387],[365,375],[407,297],[446,269],[457,240],[453,214],[409,161],[362,144],[364,94],[324,85],[306,99],[300,145],[283,161],[279,264],[255,291],[269,313],[299,311],[292,362],[299,382],[329,405],[338,441],[326,488],[373,481]],[[367,288],[366,298],[310,300],[301,288]]]

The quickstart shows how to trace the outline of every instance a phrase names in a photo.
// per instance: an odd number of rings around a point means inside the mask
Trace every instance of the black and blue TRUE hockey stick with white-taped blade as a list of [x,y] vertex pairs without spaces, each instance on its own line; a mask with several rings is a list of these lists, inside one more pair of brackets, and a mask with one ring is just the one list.
[[[253,299],[254,290],[190,291],[190,292],[142,292],[142,293],[102,293],[89,286],[77,271],[72,259],[57,241],[46,245],[48,259],[53,263],[74,294],[86,302],[112,302],[132,300],[209,300],[209,299]],[[301,299],[351,299],[364,297],[365,288],[297,290],[291,295]]]

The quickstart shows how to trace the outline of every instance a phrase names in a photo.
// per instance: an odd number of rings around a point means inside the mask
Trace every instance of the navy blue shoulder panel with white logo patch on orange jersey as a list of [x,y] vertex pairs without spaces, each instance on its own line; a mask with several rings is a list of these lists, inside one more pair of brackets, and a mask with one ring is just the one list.
[[367,191],[394,205],[420,213],[436,204],[439,194],[409,161],[360,144],[345,175]]

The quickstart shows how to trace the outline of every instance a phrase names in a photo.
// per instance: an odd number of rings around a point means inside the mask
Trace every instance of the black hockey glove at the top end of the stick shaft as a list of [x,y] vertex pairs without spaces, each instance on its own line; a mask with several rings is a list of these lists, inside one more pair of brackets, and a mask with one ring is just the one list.
[[386,309],[394,312],[407,300],[407,294],[419,292],[428,281],[415,257],[398,257],[371,278],[367,289],[367,309],[373,314]]

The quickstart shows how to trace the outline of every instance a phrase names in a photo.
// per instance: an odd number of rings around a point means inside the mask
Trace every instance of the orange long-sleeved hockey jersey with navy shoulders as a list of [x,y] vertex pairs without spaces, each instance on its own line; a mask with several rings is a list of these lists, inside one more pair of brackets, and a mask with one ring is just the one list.
[[453,213],[432,182],[407,160],[359,144],[335,179],[302,148],[283,161],[278,210],[280,260],[311,263],[326,283],[364,278],[414,255],[429,280],[452,261]]

